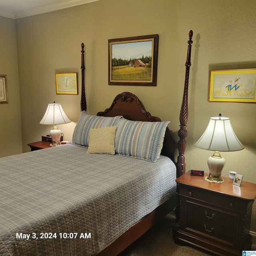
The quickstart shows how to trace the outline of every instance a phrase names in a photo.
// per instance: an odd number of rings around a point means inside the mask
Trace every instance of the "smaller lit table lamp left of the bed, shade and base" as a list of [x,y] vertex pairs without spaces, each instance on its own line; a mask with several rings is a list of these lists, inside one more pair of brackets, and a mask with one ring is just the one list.
[[58,129],[57,124],[67,124],[71,121],[66,116],[61,104],[55,103],[48,104],[44,117],[40,121],[40,124],[53,124],[54,128],[50,131],[50,136],[52,137],[51,146],[60,145],[60,137],[62,131]]

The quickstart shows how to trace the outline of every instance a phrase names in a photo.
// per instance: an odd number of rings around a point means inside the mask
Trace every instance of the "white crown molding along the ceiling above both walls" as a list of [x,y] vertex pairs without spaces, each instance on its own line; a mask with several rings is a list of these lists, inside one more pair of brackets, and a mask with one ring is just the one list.
[[56,10],[70,8],[70,7],[78,6],[81,4],[88,4],[90,2],[96,2],[96,1],[100,1],[100,0],[66,0],[66,1],[62,1],[62,2],[45,4],[42,6],[38,6],[38,7],[34,7],[34,8],[27,9],[27,10],[14,12],[14,13],[0,10],[0,16],[12,18],[12,19],[19,19],[19,18],[25,18],[28,16],[43,14],[46,12],[52,12],[52,11],[56,11]]

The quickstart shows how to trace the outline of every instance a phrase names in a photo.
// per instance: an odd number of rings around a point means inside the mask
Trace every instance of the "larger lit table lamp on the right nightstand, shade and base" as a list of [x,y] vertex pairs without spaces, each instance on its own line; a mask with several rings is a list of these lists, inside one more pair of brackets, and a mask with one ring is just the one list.
[[225,159],[220,156],[220,151],[238,151],[244,149],[243,144],[238,140],[232,128],[230,118],[211,117],[210,122],[195,146],[205,150],[214,150],[214,154],[207,160],[210,174],[207,180],[210,182],[221,183],[222,168],[225,165]]

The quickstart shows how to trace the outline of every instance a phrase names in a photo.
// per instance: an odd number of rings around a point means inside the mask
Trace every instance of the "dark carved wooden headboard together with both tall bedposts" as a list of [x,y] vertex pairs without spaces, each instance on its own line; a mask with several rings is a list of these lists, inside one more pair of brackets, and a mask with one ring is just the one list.
[[[168,156],[172,159],[173,162],[176,163],[177,166],[177,177],[181,176],[185,173],[186,164],[185,164],[185,156],[184,152],[186,149],[186,136],[188,134],[186,130],[186,124],[188,121],[188,80],[189,80],[189,71],[190,71],[190,58],[191,58],[191,46],[192,46],[192,36],[193,32],[190,30],[189,32],[189,40],[188,40],[188,51],[186,58],[186,73],[185,73],[185,83],[184,83],[184,92],[182,98],[182,105],[180,109],[180,129],[178,131],[179,141],[175,142],[170,134],[170,130],[166,129],[166,134],[164,138],[164,145],[162,148],[161,154],[164,156]],[[82,92],[81,92],[81,111],[86,110],[86,97],[85,97],[85,88],[84,88],[84,44],[82,43]],[[150,122],[159,122],[160,118],[156,116],[151,116],[149,112],[147,112],[138,99],[138,97],[130,92],[122,92],[118,94],[112,105],[107,108],[103,112],[98,112],[98,116],[118,116],[122,115],[124,118],[128,120],[136,120],[136,121],[150,121]],[[178,158],[177,161],[174,159],[175,150],[178,149]]]

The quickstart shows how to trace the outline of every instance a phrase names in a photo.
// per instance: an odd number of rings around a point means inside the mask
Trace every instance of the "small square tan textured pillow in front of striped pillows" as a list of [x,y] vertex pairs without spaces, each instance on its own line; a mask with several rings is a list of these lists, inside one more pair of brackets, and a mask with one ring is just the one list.
[[115,154],[116,126],[90,129],[88,154]]

